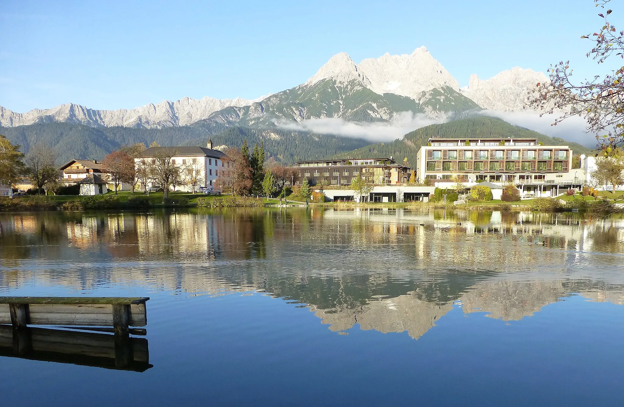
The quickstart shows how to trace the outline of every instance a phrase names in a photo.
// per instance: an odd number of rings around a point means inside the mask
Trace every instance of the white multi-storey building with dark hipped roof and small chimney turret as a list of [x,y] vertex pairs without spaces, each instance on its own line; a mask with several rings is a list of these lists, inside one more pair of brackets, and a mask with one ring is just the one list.
[[[147,162],[155,162],[156,157],[167,155],[171,156],[171,164],[180,167],[183,179],[188,180],[188,170],[192,170],[196,174],[198,184],[195,185],[197,190],[200,187],[212,187],[221,172],[225,169],[223,157],[225,154],[217,149],[213,149],[212,140],[208,140],[206,147],[150,147],[135,158],[137,169],[142,160]],[[154,182],[147,187],[155,186]],[[162,186],[162,185],[158,185]],[[145,185],[141,185],[141,188]],[[177,185],[176,190],[191,192],[192,185]]]

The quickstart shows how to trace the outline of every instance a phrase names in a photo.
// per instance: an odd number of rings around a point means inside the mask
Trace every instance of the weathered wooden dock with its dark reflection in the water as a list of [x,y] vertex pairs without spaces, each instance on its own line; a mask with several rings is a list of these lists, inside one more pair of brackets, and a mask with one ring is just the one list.
[[147,300],[0,297],[0,356],[147,370],[152,367],[147,339],[130,336],[147,333],[145,329],[130,328],[147,325]]

